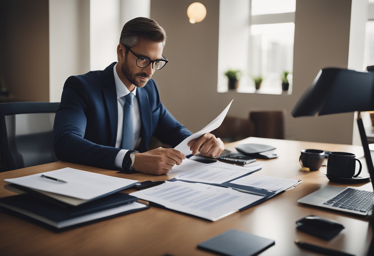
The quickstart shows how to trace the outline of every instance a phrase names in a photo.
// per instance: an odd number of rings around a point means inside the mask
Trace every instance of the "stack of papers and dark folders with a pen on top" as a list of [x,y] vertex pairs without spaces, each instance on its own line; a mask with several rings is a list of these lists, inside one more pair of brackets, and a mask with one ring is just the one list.
[[5,188],[26,194],[0,198],[3,210],[21,213],[54,230],[147,208],[135,202],[136,197],[118,192],[137,180],[63,168],[4,181]]

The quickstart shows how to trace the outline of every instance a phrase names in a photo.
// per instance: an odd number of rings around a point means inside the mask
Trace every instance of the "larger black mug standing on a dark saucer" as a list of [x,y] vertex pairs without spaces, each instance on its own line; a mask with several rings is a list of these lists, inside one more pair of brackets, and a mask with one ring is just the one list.
[[[355,175],[356,161],[360,164]],[[355,178],[361,173],[362,164],[355,154],[347,152],[330,152],[327,158],[327,175],[340,178]]]

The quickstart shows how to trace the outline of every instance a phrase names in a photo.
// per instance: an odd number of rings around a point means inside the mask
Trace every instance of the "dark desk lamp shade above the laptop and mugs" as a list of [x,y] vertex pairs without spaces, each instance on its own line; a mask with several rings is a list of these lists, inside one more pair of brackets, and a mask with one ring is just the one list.
[[374,110],[374,72],[323,68],[291,115],[315,116]]

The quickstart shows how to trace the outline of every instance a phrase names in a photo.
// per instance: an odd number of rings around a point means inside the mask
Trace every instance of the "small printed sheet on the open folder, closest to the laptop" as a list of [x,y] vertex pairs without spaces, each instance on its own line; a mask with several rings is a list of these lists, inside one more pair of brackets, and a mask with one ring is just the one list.
[[258,178],[245,176],[240,179],[233,180],[230,183],[248,186],[248,187],[254,187],[254,188],[267,189],[271,191],[278,191],[280,189],[284,190],[292,186],[295,186],[298,183],[300,183],[300,181],[292,180],[292,179],[269,177],[269,176],[261,176]]

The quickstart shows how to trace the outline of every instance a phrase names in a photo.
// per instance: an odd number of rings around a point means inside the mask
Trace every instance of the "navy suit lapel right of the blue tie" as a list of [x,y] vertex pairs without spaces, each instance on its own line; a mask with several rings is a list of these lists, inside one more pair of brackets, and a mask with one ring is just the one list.
[[140,149],[145,151],[147,150],[147,142],[152,135],[151,108],[149,106],[148,94],[143,88],[137,88],[136,97],[139,104],[142,123]]

